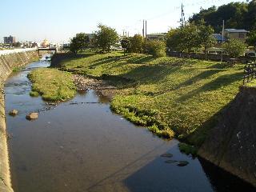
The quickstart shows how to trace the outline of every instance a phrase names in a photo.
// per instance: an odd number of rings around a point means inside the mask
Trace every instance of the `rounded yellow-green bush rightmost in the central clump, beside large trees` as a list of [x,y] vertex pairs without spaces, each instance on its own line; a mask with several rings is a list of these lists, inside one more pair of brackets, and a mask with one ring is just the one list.
[[155,58],[166,56],[166,43],[161,41],[147,41],[146,53],[152,54]]

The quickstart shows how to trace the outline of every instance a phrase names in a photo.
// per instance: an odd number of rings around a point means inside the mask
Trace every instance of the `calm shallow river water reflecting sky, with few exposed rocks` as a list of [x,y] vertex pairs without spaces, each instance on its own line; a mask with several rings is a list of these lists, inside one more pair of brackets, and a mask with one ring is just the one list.
[[[30,98],[26,75],[35,62],[6,82],[10,164],[16,192],[254,191],[198,158],[181,154],[178,141],[164,141],[110,111],[106,98],[89,90],[58,106]],[[38,111],[36,121],[26,114]],[[162,158],[161,154],[173,154]],[[177,162],[188,161],[179,167]]]

